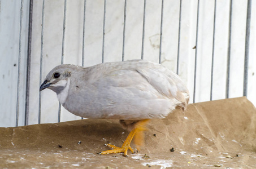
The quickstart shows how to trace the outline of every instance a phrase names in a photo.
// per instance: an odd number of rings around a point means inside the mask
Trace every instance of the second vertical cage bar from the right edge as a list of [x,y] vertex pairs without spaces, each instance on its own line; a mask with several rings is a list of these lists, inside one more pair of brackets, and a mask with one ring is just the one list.
[[229,76],[230,76],[230,55],[231,55],[231,33],[232,33],[232,7],[233,0],[230,0],[229,5],[229,28],[228,28],[228,56],[227,56],[227,78],[226,78],[226,93],[225,98],[229,97]]

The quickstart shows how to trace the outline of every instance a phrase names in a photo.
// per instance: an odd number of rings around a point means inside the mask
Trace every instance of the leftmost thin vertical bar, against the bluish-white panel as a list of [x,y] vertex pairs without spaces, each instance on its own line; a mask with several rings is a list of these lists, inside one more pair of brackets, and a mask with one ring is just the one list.
[[23,19],[23,0],[20,4],[20,36],[19,36],[19,60],[18,60],[18,84],[17,84],[17,101],[16,101],[16,127],[19,125],[19,96],[20,96],[20,56],[22,40],[22,19]]

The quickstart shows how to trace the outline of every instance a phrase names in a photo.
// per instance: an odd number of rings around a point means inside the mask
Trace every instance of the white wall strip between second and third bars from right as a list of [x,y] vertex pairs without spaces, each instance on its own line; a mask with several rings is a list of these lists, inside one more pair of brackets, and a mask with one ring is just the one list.
[[225,98],[228,56],[229,1],[216,1],[212,100]]

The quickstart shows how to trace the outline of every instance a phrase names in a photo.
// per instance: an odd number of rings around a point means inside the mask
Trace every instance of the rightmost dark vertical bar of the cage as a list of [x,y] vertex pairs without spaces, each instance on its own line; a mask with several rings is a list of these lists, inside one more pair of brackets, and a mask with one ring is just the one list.
[[246,17],[246,37],[245,37],[245,66],[244,66],[244,96],[247,96],[248,88],[248,61],[250,46],[250,23],[251,23],[251,0],[248,0]]

